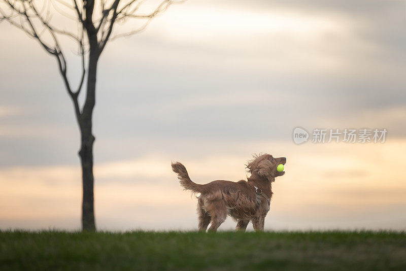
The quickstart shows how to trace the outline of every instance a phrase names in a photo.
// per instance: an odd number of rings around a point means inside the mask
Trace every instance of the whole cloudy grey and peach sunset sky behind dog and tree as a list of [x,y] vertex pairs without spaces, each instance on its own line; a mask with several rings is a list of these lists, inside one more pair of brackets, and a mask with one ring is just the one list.
[[[79,229],[80,137],[55,59],[0,31],[0,228]],[[238,181],[267,152],[287,163],[266,230],[405,230],[405,31],[404,1],[188,0],[112,41],[93,116],[97,228],[196,229],[171,161],[196,183]],[[296,145],[297,126],[388,133]]]

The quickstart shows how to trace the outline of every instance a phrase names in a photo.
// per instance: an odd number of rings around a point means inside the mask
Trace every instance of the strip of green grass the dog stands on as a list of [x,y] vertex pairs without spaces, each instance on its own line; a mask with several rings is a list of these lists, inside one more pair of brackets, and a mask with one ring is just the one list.
[[404,232],[0,231],[0,270],[406,270]]

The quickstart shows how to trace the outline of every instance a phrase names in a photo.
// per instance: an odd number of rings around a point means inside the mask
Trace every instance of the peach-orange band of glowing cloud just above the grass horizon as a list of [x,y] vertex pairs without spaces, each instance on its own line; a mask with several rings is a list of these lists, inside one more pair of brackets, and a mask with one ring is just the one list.
[[[406,172],[402,169],[406,142],[378,145],[267,142],[246,148],[252,150],[260,145],[273,146],[275,156],[288,158],[285,176],[273,183],[275,194],[266,224],[268,229],[355,229],[360,225],[374,229],[402,228],[396,219],[404,213],[398,207],[406,203],[403,182]],[[245,179],[248,151],[214,155],[191,153],[189,149],[186,153],[179,153],[177,158],[196,183]],[[138,159],[96,163],[98,226],[102,229],[194,229],[196,200],[179,186],[171,171],[170,158],[167,154],[155,153]],[[72,217],[76,224],[67,225],[71,229],[78,228],[80,176],[79,166],[2,169],[0,227],[65,228],[63,221]],[[397,216],[393,213],[395,209]],[[362,217],[364,221],[380,222],[367,226],[359,221]],[[229,220],[222,228],[233,227]]]

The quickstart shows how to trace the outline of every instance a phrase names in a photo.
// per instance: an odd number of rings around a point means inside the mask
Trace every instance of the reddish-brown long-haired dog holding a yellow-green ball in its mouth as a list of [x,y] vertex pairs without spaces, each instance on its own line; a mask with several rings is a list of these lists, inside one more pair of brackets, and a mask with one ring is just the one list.
[[271,183],[285,174],[277,171],[278,164],[285,163],[285,157],[254,155],[246,165],[251,173],[248,181],[213,181],[208,184],[192,182],[186,167],[179,162],[172,163],[172,170],[183,188],[200,193],[197,197],[199,230],[206,231],[211,222],[209,230],[216,231],[227,215],[237,221],[236,230],[245,230],[250,221],[255,230],[263,230],[272,197]]

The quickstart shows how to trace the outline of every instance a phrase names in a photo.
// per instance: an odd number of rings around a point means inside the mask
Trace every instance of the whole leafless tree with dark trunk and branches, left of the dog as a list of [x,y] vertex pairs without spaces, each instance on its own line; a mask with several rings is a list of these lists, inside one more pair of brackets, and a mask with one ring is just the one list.
[[[70,1],[70,2],[69,2]],[[83,201],[82,229],[94,231],[93,197],[93,143],[92,114],[95,105],[97,62],[108,41],[132,35],[143,30],[152,18],[167,7],[182,0],[0,0],[0,22],[8,21],[23,30],[27,35],[54,56],[67,93],[75,109],[76,120],[81,133],[79,156],[82,164]],[[146,3],[149,2],[149,3]],[[151,8],[143,12],[143,8]],[[149,5],[149,6],[148,6]],[[54,15],[63,15],[72,23],[55,23]],[[129,19],[141,19],[134,29],[116,33],[116,25]],[[64,25],[65,27],[61,27]],[[74,31],[66,29],[74,25]],[[68,27],[69,28],[69,27]],[[62,49],[64,37],[70,38],[78,46],[81,72],[78,86],[73,88],[67,77],[67,60]],[[86,89],[85,101],[78,101],[82,88]]]

